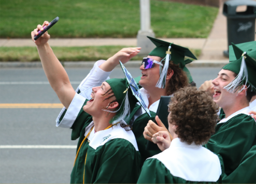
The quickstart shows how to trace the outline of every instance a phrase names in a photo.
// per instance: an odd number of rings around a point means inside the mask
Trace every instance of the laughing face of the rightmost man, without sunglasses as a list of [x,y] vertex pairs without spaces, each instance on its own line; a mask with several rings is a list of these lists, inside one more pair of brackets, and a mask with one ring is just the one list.
[[217,78],[212,81],[212,84],[214,84],[214,101],[223,109],[229,108],[237,96],[236,93],[232,94],[223,89],[233,79],[235,79],[235,73],[233,71],[222,69],[218,73]]

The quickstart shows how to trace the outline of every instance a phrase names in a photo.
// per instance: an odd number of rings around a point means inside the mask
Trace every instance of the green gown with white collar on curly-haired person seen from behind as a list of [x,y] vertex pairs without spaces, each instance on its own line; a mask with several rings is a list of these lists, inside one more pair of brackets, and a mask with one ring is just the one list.
[[137,183],[221,183],[223,164],[208,149],[179,138],[158,155],[147,159]]

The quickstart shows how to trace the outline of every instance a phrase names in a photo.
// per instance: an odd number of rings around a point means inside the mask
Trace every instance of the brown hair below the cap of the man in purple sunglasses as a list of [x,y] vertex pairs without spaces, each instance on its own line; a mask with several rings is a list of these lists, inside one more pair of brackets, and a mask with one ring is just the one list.
[[169,68],[174,71],[174,74],[166,86],[166,91],[167,95],[172,95],[178,89],[188,86],[189,81],[186,72],[184,72],[179,65],[171,61],[169,62]]

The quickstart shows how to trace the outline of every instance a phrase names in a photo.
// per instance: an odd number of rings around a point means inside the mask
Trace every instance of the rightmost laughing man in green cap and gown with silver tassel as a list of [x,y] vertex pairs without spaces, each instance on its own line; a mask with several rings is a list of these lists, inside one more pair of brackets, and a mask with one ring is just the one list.
[[[237,60],[224,66],[218,77],[212,81],[215,89],[214,101],[221,106],[225,118],[218,122],[216,133],[205,147],[223,158],[223,182],[228,183],[238,181],[232,179],[233,172],[239,173],[239,168],[245,168],[240,164],[246,165],[247,154],[256,145],[256,122],[248,114],[251,111],[249,102],[256,91],[256,48],[255,42],[248,44],[245,51],[233,44]],[[246,183],[252,177],[256,182],[255,173],[247,173],[253,175],[239,175],[238,182]]]

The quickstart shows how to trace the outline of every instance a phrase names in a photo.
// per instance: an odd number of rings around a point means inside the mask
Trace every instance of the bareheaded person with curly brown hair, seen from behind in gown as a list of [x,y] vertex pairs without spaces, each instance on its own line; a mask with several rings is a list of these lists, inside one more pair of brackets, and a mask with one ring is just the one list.
[[166,131],[153,135],[163,152],[145,161],[138,183],[221,183],[222,158],[202,146],[215,132],[217,104],[190,87],[176,91],[172,101],[168,129],[173,140]]

